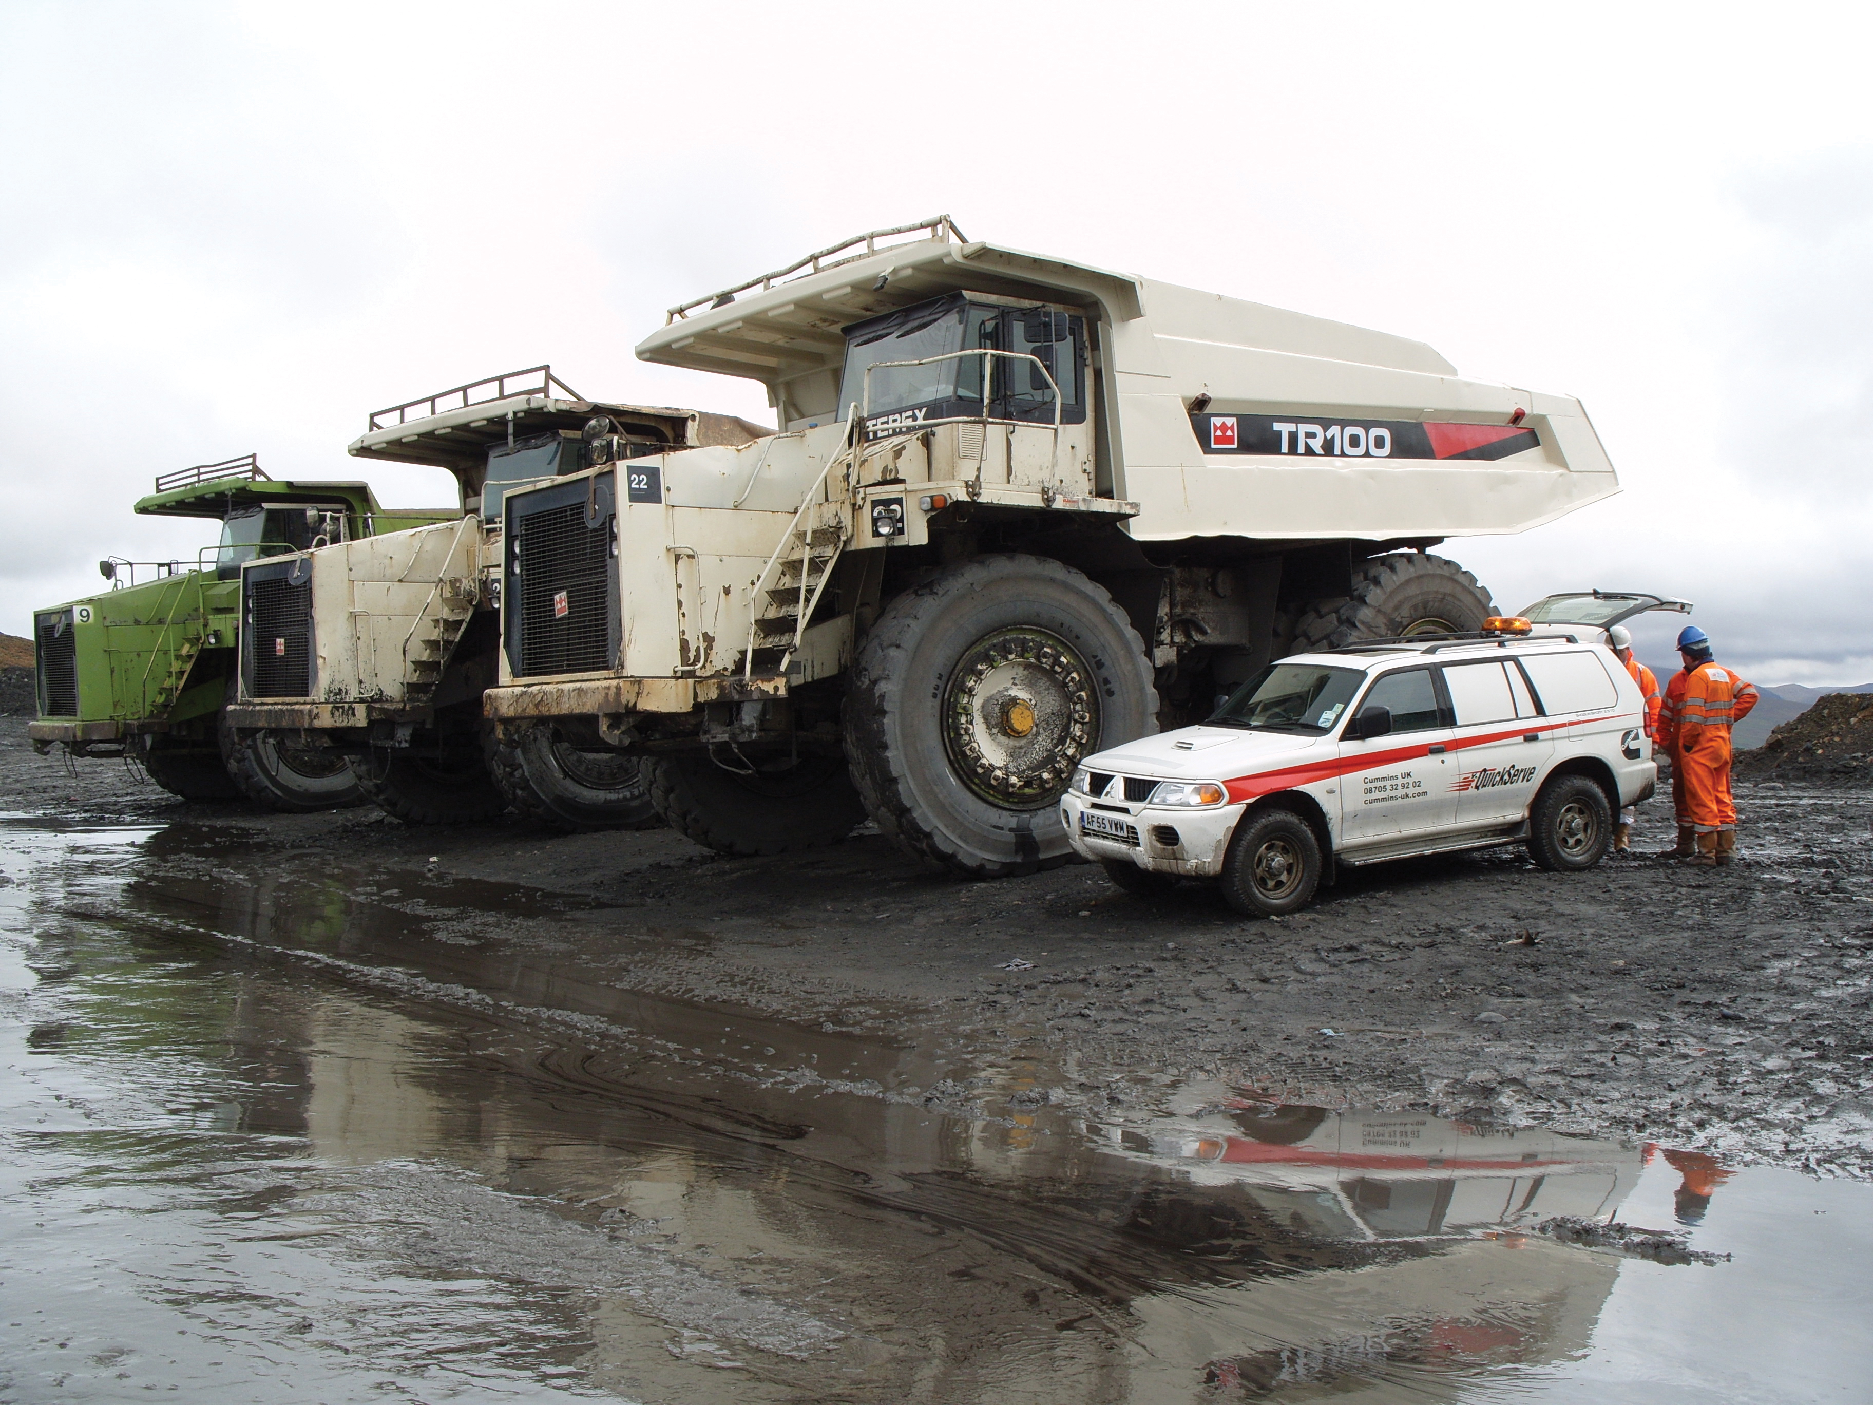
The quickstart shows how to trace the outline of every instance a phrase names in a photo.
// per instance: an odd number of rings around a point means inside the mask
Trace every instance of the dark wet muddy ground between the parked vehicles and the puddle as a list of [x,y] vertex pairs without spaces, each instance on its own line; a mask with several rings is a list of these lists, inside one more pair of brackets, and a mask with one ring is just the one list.
[[[240,864],[283,873],[541,890],[581,922],[545,935],[524,907],[502,907],[472,940],[558,942],[562,957],[616,972],[614,987],[805,1028],[888,1034],[910,1012],[942,1012],[959,1040],[1069,1070],[1017,1094],[1028,1105],[1148,1111],[1156,1088],[1214,1077],[1290,1103],[1540,1122],[1729,1165],[1873,1175],[1867,789],[1740,787],[1727,869],[1628,860],[1562,877],[1517,850],[1403,862],[1285,922],[1246,922],[1202,886],[1141,901],[1084,865],[963,882],[875,834],[805,858],[730,860],[667,830],[408,830],[373,809],[189,806],[120,762],[34,755],[17,717],[0,719],[0,798],[24,813],[206,826]],[[1669,839],[1665,809],[1643,807],[1637,849]],[[176,879],[223,862],[236,860],[178,845]],[[1010,1111],[983,1088],[888,1092]]]

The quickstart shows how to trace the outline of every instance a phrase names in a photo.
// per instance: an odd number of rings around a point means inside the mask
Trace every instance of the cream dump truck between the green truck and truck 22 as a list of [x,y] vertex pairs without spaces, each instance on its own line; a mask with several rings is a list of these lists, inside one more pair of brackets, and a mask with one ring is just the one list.
[[588,401],[545,365],[378,410],[350,451],[448,468],[463,513],[253,562],[234,725],[348,759],[363,792],[410,824],[509,804],[556,828],[656,824],[637,757],[551,721],[489,746],[481,725],[496,671],[502,493],[584,468],[588,431],[607,461],[768,433],[730,416]]

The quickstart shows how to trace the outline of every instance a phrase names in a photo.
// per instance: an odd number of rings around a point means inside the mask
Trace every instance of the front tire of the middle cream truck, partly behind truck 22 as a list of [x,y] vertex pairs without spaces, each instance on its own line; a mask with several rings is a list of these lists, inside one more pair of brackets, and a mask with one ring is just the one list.
[[504,740],[487,731],[489,774],[517,815],[564,834],[650,830],[663,822],[650,804],[650,766],[618,751],[583,751],[549,723]]

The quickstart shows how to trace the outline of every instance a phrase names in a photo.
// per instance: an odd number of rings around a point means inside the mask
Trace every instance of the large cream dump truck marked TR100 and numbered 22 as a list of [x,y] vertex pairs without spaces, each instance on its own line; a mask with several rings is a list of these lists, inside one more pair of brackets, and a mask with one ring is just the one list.
[[1474,629],[1489,596],[1427,547],[1618,491],[1573,399],[948,217],[637,354],[760,380],[783,433],[509,493],[487,712],[656,757],[665,817],[729,852],[869,813],[965,873],[1064,862],[1081,757],[1277,654]]

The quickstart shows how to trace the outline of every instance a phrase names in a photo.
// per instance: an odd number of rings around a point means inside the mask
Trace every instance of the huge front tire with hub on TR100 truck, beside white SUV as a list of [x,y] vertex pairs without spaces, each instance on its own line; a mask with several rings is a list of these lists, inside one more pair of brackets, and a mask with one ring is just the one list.
[[1043,556],[983,556],[901,594],[845,702],[871,819],[980,879],[1066,864],[1073,768],[1156,729],[1144,641],[1101,586]]

